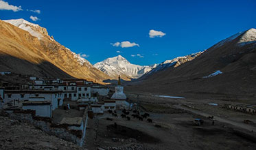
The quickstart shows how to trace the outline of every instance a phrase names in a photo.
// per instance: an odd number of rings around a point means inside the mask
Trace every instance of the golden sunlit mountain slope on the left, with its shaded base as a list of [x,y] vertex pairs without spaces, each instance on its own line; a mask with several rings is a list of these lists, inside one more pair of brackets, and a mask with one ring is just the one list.
[[106,74],[23,19],[0,20],[0,70],[41,77],[105,80]]

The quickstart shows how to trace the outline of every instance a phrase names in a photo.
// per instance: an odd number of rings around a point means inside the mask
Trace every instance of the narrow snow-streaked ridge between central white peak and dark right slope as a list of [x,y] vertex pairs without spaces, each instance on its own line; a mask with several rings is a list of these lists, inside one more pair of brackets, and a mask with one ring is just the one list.
[[150,70],[150,72],[146,72],[146,74],[141,76],[141,78],[139,78],[139,80],[141,80],[143,78],[148,78],[148,76],[152,76],[154,73],[166,70],[169,67],[178,67],[179,65],[186,63],[187,61],[191,61],[191,60],[195,59],[196,57],[198,57],[201,54],[202,54],[202,52],[196,52],[194,54],[186,55],[184,57],[176,57],[172,60],[163,61],[163,63],[156,65],[156,67],[154,67],[152,70]]

